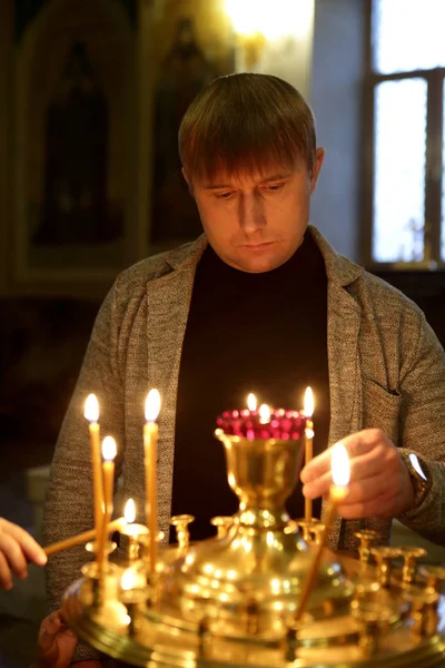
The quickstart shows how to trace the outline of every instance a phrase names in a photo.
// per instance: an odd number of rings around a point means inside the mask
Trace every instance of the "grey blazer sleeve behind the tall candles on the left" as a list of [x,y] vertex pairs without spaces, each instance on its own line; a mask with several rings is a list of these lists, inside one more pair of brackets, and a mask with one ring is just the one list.
[[[119,314],[117,283],[106,297],[91,333],[79,380],[65,416],[51,465],[47,492],[43,541],[50,544],[93,527],[92,473],[85,400],[93,392],[99,401],[101,438],[112,435],[119,458],[123,449],[123,387],[118,370]],[[53,554],[46,569],[51,610],[61,606],[67,588],[89,560],[83,546]],[[75,661],[93,659],[98,652],[79,641]]]

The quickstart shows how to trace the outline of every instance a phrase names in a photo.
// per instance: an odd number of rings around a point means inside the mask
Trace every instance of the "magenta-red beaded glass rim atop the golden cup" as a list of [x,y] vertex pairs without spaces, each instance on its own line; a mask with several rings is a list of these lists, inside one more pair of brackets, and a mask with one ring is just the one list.
[[256,439],[298,440],[305,435],[307,416],[299,411],[271,409],[268,413],[261,410],[225,411],[216,423],[225,434],[241,436],[248,441]]

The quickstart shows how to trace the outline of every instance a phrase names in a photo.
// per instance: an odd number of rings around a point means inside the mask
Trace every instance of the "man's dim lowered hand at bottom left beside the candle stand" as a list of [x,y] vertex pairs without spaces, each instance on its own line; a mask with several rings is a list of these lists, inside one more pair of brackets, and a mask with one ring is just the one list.
[[63,620],[60,610],[46,617],[40,625],[37,656],[38,668],[68,668],[77,637]]

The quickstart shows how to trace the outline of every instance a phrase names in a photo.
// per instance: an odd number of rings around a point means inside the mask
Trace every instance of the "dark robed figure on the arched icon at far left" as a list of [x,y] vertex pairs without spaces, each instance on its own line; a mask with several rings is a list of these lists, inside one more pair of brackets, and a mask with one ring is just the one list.
[[72,45],[44,128],[44,198],[34,244],[103,243],[119,235],[107,203],[108,109],[87,47]]

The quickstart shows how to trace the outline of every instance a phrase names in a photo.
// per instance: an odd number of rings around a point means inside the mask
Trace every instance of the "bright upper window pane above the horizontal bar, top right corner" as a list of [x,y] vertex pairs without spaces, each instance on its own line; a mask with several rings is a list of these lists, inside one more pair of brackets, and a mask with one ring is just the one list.
[[374,0],[374,67],[390,73],[445,65],[444,0]]

